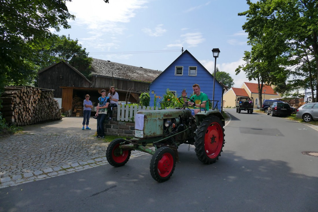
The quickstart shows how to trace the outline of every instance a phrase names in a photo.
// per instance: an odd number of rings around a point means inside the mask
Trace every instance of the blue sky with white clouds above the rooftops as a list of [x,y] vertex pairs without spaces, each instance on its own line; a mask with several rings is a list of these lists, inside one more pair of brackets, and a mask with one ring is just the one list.
[[234,87],[248,81],[244,72],[235,75],[250,50],[246,17],[238,16],[246,0],[73,0],[67,7],[76,16],[72,28],[55,33],[77,38],[90,57],[164,71],[183,47],[213,73],[211,50],[219,48],[217,67]]

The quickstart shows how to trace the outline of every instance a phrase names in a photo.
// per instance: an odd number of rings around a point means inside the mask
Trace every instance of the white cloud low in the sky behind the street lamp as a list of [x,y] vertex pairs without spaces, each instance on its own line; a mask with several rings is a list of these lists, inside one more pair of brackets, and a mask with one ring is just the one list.
[[[213,75],[214,74],[214,61],[212,60],[199,60],[199,62]],[[246,75],[244,72],[240,72],[238,75],[235,75],[235,69],[239,67],[239,65],[244,64],[243,59],[239,59],[236,62],[231,62],[231,63],[222,63],[218,64],[217,61],[217,67],[220,71],[227,72],[230,74],[230,76],[234,80],[234,87],[239,88],[243,82],[252,82],[252,83],[257,83],[256,80],[249,81],[246,78]]]

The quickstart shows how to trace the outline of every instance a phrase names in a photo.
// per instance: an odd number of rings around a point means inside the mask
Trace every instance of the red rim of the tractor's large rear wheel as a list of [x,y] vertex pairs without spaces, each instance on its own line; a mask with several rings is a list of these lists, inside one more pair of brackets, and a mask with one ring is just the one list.
[[223,132],[218,122],[212,122],[204,136],[205,154],[213,159],[218,157],[223,145]]

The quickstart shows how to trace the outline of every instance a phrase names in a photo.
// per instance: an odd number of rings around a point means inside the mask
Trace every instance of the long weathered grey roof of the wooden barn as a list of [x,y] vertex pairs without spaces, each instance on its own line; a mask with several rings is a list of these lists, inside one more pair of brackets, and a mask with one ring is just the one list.
[[93,75],[115,77],[120,79],[152,82],[161,73],[157,70],[125,65],[93,58],[91,72]]

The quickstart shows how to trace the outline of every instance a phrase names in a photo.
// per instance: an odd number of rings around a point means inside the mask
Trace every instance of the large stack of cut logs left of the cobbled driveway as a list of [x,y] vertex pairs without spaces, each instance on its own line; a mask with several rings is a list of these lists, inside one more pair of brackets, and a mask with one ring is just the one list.
[[31,86],[5,86],[0,112],[8,124],[24,126],[60,120],[59,103],[52,90]]

